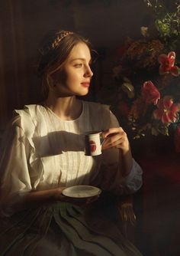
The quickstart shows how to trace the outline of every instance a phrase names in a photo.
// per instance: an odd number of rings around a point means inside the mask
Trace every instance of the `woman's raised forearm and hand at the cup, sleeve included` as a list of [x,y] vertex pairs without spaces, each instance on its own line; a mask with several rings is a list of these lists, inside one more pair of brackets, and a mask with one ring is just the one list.
[[101,184],[118,195],[133,193],[142,185],[142,169],[133,159],[127,134],[121,127],[103,132],[104,166]]

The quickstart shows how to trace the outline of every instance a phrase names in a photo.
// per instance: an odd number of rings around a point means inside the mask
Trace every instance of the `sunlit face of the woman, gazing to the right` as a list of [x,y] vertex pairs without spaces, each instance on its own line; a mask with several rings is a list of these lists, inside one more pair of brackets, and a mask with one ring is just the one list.
[[72,48],[61,71],[56,71],[56,93],[59,97],[88,94],[92,78],[91,54],[85,43],[78,43]]

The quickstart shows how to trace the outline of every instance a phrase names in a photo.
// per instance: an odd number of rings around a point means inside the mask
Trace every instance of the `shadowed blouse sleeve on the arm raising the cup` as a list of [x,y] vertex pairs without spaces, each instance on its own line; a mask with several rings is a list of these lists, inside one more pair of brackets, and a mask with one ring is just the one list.
[[[106,123],[107,123],[106,113]],[[117,127],[120,124],[117,118],[109,110],[109,127]],[[107,129],[108,127],[105,127]],[[112,191],[116,194],[130,194],[137,192],[142,185],[143,171],[140,165],[133,159],[133,166],[130,173],[126,177],[121,176],[121,164],[119,161],[120,156],[119,149],[107,149],[102,153],[102,166],[101,166],[101,188]]]

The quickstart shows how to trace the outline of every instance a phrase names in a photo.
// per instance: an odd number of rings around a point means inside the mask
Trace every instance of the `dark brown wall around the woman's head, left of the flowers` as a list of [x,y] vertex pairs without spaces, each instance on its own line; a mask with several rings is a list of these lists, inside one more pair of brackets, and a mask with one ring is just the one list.
[[111,82],[114,49],[127,36],[140,37],[151,15],[143,0],[1,0],[0,127],[14,108],[40,100],[37,54],[50,29],[79,32],[103,55],[95,74],[98,90]]

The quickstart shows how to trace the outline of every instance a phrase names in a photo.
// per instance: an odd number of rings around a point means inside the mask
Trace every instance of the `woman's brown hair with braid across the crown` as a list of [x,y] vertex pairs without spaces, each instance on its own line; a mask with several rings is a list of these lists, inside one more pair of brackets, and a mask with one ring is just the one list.
[[43,47],[40,48],[40,61],[37,71],[42,80],[43,97],[45,99],[49,92],[48,76],[62,67],[72,48],[80,42],[85,43],[92,51],[89,41],[72,31],[51,31],[44,38]]

